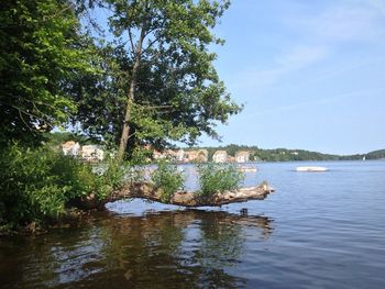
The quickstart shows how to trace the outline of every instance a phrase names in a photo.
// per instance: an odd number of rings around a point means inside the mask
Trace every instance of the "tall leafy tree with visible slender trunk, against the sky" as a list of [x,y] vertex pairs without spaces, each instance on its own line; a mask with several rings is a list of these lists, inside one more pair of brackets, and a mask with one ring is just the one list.
[[[105,76],[81,80],[76,121],[91,135],[119,144],[122,158],[139,144],[194,144],[241,108],[213,67],[212,29],[229,7],[209,0],[105,0],[113,42],[103,54]],[[80,88],[81,86],[79,86]],[[130,151],[130,149],[129,149]]]

